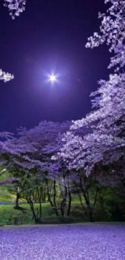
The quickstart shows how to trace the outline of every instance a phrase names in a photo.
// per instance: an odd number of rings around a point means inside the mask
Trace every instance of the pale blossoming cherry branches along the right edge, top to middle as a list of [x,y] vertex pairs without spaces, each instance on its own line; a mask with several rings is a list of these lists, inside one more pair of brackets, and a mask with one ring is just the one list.
[[[63,138],[64,147],[52,159],[63,158],[69,169],[84,168],[90,175],[95,164],[113,164],[125,155],[125,1],[105,0],[110,3],[106,14],[100,14],[101,34],[94,33],[88,38],[86,47],[98,47],[106,42],[109,52],[114,52],[108,68],[114,66],[109,80],[100,80],[100,87],[90,96],[94,111],[81,120],[72,121],[70,131]],[[83,127],[92,133],[80,137],[75,131]]]

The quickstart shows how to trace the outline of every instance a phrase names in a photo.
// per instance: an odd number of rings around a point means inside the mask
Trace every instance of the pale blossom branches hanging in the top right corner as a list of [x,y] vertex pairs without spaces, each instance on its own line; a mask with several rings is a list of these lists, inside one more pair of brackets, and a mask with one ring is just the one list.
[[111,6],[106,14],[99,12],[98,18],[103,19],[100,25],[101,34],[95,32],[93,37],[89,37],[86,47],[98,47],[106,42],[109,45],[109,52],[115,53],[108,68],[117,66],[117,71],[125,65],[125,1],[105,0],[104,2],[109,2]]

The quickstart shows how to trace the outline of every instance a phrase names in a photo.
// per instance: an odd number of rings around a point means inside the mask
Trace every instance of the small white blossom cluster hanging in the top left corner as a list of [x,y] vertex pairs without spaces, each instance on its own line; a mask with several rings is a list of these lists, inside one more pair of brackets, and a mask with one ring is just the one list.
[[25,11],[26,0],[4,0],[4,6],[9,9],[9,14],[12,19],[19,16],[20,13]]

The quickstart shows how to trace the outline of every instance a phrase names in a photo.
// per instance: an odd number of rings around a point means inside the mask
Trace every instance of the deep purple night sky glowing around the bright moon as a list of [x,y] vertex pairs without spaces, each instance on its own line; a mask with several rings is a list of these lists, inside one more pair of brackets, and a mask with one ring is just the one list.
[[[0,81],[0,131],[81,119],[90,112],[89,94],[109,74],[108,47],[85,48],[87,38],[99,31],[103,2],[27,0],[15,20],[0,2],[0,67],[15,75]],[[60,73],[60,84],[53,87],[45,83],[51,69]]]

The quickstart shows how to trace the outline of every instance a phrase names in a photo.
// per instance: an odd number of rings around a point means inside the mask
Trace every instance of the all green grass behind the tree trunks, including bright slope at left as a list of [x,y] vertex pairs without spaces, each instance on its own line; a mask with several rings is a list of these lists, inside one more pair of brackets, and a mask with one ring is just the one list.
[[[0,193],[0,202],[11,202],[16,200],[15,194],[10,194],[7,191],[7,188],[2,189]],[[23,201],[23,199],[21,199]],[[25,201],[25,200],[24,200]],[[60,202],[61,199],[57,199],[57,209],[60,213]],[[85,201],[83,200],[83,203]],[[92,203],[92,201],[91,201]],[[93,203],[92,203],[93,204]],[[14,224],[14,218],[19,218],[19,225],[33,225],[35,224],[33,220],[33,215],[31,212],[31,208],[29,204],[21,204],[21,207],[26,209],[26,213],[21,212],[20,210],[14,209],[14,205],[0,205],[0,226],[2,225],[13,225]],[[34,204],[35,212],[37,212],[37,208],[39,208],[39,204]],[[67,213],[68,204],[66,204],[65,207],[65,216]],[[72,203],[71,203],[71,213],[70,213],[71,222],[88,222],[89,219],[85,216],[85,213],[83,212],[83,208],[80,204],[79,197],[77,195],[74,195],[72,197]],[[43,223],[55,223],[59,224],[62,222],[61,216],[57,217],[54,209],[51,207],[50,203],[42,203],[42,218]],[[67,222],[69,220],[69,217],[64,218],[64,222]],[[100,205],[96,205],[96,212],[94,213],[94,220],[96,222],[100,221],[106,221],[105,220],[105,214],[100,210]]]

